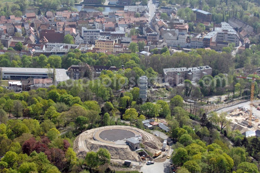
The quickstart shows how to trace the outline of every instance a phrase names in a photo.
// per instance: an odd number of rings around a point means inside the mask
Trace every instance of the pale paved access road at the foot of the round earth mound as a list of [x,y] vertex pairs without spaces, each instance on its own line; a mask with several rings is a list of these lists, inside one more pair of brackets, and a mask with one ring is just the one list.
[[[169,153],[169,155],[171,155],[171,153]],[[164,162],[155,162],[152,165],[144,164],[141,167],[141,171],[143,173],[153,173],[153,172],[156,172],[156,173],[170,173],[171,172],[170,166],[171,166],[170,165],[170,159],[166,159]]]

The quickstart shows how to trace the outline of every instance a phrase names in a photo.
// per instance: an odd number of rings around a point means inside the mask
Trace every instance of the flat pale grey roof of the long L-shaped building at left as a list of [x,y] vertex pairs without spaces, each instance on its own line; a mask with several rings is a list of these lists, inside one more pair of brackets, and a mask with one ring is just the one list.
[[[48,69],[46,68],[20,68],[20,67],[0,67],[2,72],[13,72],[13,73],[29,73],[30,74],[48,74]],[[51,69],[53,71],[53,69]],[[56,70],[56,80],[57,81],[66,81],[69,77],[66,74],[65,69],[55,69]],[[33,76],[33,75],[32,75]]]

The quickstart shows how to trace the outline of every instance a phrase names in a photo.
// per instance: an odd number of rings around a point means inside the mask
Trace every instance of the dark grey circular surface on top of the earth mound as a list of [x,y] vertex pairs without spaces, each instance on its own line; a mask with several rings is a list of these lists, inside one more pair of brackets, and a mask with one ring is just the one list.
[[118,141],[135,137],[135,133],[125,129],[107,129],[100,132],[99,137],[107,141]]

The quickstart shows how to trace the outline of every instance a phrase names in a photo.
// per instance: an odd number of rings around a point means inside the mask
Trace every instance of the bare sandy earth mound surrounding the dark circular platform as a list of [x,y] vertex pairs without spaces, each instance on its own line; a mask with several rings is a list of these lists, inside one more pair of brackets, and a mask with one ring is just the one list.
[[106,148],[110,152],[112,159],[133,160],[135,162],[142,161],[140,156],[135,151],[131,150],[128,145],[111,144],[94,140],[94,133],[105,128],[124,128],[137,131],[142,136],[142,144],[146,145],[145,149],[151,153],[154,153],[162,147],[162,143],[158,138],[139,128],[131,126],[106,126],[87,130],[75,139],[73,147],[79,158],[84,158],[89,151],[97,151],[99,148]]

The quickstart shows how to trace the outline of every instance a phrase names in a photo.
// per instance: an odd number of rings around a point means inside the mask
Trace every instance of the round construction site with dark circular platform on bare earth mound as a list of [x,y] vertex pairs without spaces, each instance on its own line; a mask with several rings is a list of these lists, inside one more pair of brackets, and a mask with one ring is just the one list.
[[89,151],[106,148],[112,162],[143,162],[165,156],[162,151],[170,150],[167,142],[131,126],[105,126],[81,133],[74,141],[77,157],[84,158]]

